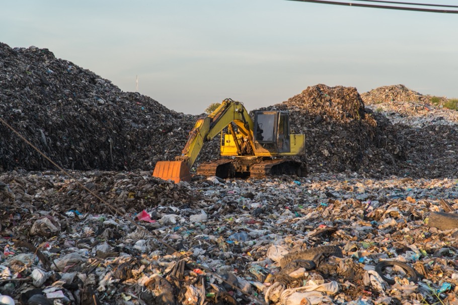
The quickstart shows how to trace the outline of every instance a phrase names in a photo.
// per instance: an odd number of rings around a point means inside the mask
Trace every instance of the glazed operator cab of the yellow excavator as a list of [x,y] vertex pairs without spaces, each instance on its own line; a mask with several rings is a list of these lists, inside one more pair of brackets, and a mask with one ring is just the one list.
[[286,111],[255,112],[255,142],[272,152],[289,152],[289,113]]

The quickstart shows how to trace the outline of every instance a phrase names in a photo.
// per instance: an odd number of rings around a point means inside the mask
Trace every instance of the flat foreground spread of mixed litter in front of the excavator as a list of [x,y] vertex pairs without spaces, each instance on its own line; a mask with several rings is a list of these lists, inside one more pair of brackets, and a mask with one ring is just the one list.
[[121,215],[62,174],[0,175],[0,293],[17,303],[458,303],[458,220],[431,216],[458,218],[456,179],[72,174]]

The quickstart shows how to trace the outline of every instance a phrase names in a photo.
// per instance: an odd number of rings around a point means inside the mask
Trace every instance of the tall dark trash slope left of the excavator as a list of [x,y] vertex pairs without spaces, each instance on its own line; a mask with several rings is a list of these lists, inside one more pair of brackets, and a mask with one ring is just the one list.
[[[0,117],[56,163],[81,170],[150,170],[179,154],[195,122],[48,49],[3,43]],[[53,168],[3,124],[0,143],[0,170]]]

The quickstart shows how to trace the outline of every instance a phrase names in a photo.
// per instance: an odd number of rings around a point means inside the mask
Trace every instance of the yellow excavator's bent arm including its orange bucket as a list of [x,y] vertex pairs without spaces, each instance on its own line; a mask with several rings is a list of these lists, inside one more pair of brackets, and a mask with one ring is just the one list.
[[248,139],[249,144],[254,148],[253,120],[242,103],[226,98],[213,113],[196,122],[193,130],[189,133],[188,142],[181,155],[175,157],[175,161],[159,161],[153,176],[164,180],[171,179],[175,182],[189,181],[191,179],[190,169],[204,143],[213,139],[231,123],[237,125],[239,132]]

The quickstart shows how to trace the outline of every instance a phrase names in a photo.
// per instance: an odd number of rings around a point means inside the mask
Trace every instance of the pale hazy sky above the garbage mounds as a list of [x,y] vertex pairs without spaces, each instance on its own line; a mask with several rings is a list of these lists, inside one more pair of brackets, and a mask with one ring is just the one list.
[[458,14],[284,0],[15,0],[2,2],[0,41],[48,48],[124,91],[138,75],[141,94],[189,114],[226,97],[269,106],[318,83],[458,98]]

